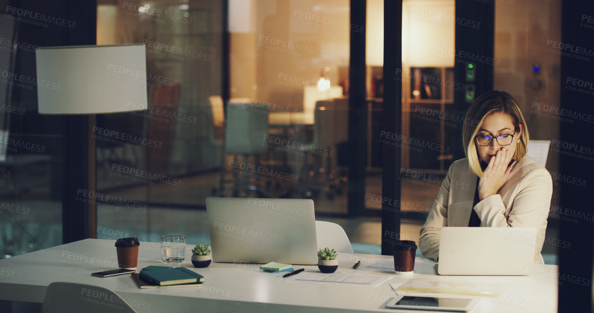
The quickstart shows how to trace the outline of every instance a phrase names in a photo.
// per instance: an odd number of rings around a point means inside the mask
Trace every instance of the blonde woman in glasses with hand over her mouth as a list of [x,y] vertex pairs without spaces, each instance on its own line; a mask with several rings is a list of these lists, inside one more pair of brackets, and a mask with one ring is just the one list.
[[421,228],[419,247],[425,257],[439,257],[441,227],[535,227],[534,263],[544,264],[552,181],[540,163],[526,156],[528,140],[513,97],[489,91],[476,98],[462,128],[466,158],[450,166]]

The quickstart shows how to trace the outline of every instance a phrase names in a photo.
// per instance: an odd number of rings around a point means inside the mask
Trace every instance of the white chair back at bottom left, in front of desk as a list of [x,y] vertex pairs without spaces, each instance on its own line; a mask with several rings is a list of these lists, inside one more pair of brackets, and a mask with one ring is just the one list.
[[135,313],[111,290],[89,284],[50,283],[43,299],[43,313]]

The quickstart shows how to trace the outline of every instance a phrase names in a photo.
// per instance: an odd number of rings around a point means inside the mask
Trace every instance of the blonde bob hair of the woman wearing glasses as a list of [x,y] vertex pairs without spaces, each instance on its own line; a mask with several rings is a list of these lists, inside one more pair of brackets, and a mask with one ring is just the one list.
[[[475,136],[479,128],[481,128],[485,117],[495,112],[502,112],[511,116],[516,132],[520,130],[520,124],[523,125],[520,143],[517,144],[516,152],[512,159],[520,160],[526,155],[529,140],[528,127],[516,100],[505,91],[493,90],[481,94],[481,96],[472,102],[468,112],[466,112],[466,118],[464,119],[464,126],[462,128],[462,144],[464,145],[464,153],[468,158],[469,170],[478,177],[483,176],[483,171],[479,163],[478,154],[476,153]],[[514,140],[517,140],[517,137],[514,137]]]

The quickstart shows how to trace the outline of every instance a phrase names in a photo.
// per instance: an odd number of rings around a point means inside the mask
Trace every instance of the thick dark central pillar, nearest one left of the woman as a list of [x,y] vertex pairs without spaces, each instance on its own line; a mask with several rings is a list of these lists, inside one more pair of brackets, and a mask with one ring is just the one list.
[[[400,134],[402,128],[402,0],[384,0],[384,107],[382,130]],[[394,236],[400,233],[400,147],[382,151],[381,254],[391,255]],[[398,237],[400,238],[400,236]]]

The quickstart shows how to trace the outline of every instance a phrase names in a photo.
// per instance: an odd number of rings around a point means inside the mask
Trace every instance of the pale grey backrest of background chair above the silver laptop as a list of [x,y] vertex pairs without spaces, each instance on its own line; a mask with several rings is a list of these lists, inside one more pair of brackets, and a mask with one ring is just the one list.
[[250,103],[227,106],[225,152],[264,154],[267,152],[268,110]]

